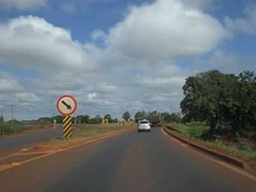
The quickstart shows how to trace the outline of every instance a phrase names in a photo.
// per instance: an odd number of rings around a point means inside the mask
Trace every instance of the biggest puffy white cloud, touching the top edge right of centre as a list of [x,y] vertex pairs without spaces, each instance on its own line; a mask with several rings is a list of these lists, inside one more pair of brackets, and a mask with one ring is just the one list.
[[132,6],[109,30],[108,49],[156,62],[198,56],[216,49],[228,33],[218,20],[182,1],[158,0]]

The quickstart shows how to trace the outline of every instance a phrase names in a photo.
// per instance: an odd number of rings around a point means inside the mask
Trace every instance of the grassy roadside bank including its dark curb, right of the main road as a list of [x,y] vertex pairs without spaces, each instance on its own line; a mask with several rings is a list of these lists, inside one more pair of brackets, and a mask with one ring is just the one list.
[[221,139],[214,141],[202,140],[200,136],[208,131],[205,125],[201,124],[199,127],[196,127],[195,124],[191,124],[191,126],[189,124],[169,124],[164,127],[164,131],[183,143],[196,148],[196,150],[200,150],[241,168],[250,165],[250,168],[256,170],[256,150],[253,148],[240,148],[239,143],[225,143]]

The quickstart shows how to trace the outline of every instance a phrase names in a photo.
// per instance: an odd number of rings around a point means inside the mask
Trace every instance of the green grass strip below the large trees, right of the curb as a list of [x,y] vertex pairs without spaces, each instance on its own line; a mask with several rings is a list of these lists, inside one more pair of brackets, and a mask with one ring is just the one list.
[[192,122],[185,125],[175,124],[172,128],[180,134],[188,136],[195,143],[256,163],[256,150],[245,140],[237,140],[234,143],[227,142],[220,137],[215,141],[203,141],[201,136],[209,131],[209,126],[200,122]]

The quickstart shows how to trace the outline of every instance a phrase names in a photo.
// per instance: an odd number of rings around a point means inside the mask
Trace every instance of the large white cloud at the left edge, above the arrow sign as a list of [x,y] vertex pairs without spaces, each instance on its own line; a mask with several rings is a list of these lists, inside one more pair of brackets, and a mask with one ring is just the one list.
[[0,24],[0,62],[40,71],[90,69],[93,62],[70,31],[39,17],[18,17]]

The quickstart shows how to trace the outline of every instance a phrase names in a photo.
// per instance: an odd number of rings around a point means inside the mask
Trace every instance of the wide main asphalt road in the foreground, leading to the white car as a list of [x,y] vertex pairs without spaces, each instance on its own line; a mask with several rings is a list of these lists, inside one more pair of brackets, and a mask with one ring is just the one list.
[[1,191],[246,191],[256,182],[159,128],[126,132],[0,173]]

